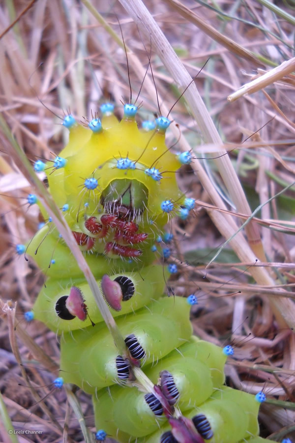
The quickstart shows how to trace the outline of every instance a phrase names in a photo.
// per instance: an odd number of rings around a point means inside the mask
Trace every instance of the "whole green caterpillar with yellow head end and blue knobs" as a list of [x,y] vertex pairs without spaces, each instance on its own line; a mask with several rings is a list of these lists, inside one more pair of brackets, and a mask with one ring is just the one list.
[[[154,264],[169,256],[159,246],[169,218],[185,218],[194,207],[174,173],[191,153],[166,146],[166,117],[146,131],[138,128],[133,104],[124,105],[120,122],[110,103],[100,109],[101,120],[95,115],[88,128],[66,116],[69,143],[53,162],[34,167],[46,171],[52,197],[118,317],[130,359],[118,354],[81,270],[39,205],[48,221],[27,253],[48,279],[32,312],[61,334],[60,376],[92,394],[96,428],[122,443],[236,443],[257,436],[259,403],[222,387],[225,353],[191,337],[190,305],[162,296],[167,273]],[[138,366],[152,392],[138,390]]]

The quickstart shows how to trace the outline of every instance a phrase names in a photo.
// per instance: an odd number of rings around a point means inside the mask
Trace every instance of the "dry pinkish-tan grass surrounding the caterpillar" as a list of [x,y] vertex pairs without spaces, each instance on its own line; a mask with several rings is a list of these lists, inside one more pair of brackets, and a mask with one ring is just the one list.
[[[134,11],[139,2],[126,3]],[[2,2],[1,29],[5,30],[28,4]],[[0,108],[31,161],[50,158],[50,152],[58,153],[66,140],[59,118],[46,106],[58,116],[70,108],[81,119],[97,108],[97,102],[111,97],[118,103],[118,114],[121,113],[119,102],[122,97],[128,99],[129,85],[125,54],[116,41],[116,37],[120,40],[117,16],[130,48],[134,97],[148,65],[142,39],[147,48],[152,41],[151,63],[163,112],[179,96],[175,84],[180,85],[180,91],[188,84],[185,77],[177,76],[177,68],[181,68],[178,62],[171,64],[172,70],[163,67],[155,54],[160,49],[147,22],[139,26],[139,33],[119,3],[92,4],[110,25],[113,35],[78,2],[37,0],[0,40]],[[181,99],[172,112],[181,131],[179,149],[189,145],[196,158],[207,159],[196,160],[193,169],[187,167],[178,174],[181,189],[198,200],[198,207],[186,222],[173,221],[177,239],[174,260],[179,261],[181,272],[172,279],[171,286],[178,295],[195,292],[199,297],[199,305],[192,312],[197,335],[236,346],[235,359],[227,365],[228,384],[247,392],[266,392],[269,400],[260,414],[262,435],[271,435],[277,441],[284,436],[292,438],[295,76],[283,72],[285,76],[276,78],[275,83],[262,83],[264,91],[259,88],[253,95],[231,103],[227,97],[255,77],[258,68],[258,73],[263,74],[292,58],[294,9],[283,2],[276,5],[290,18],[280,11],[272,12],[265,1],[187,1],[186,6],[194,13],[184,10],[176,0],[150,0],[145,4],[192,76],[209,58],[195,84],[219,136],[227,143],[222,144],[218,134],[212,133],[215,130],[208,130],[208,115],[204,110],[203,114],[199,112],[202,105],[196,100],[195,90],[189,89],[186,100],[191,111]],[[213,34],[207,25],[214,30]],[[146,35],[149,33],[150,38]],[[161,57],[164,63],[167,55],[168,47]],[[148,75],[140,96],[144,103],[140,112],[143,119],[157,112],[155,89]],[[19,199],[29,193],[30,186],[13,161],[7,137],[0,135],[0,288],[2,302],[13,301],[6,305],[0,326],[3,401],[16,430],[43,431],[39,436],[20,435],[20,442],[84,441],[86,437],[78,422],[82,412],[86,425],[94,430],[91,401],[86,394],[77,393],[81,410],[72,393],[64,390],[54,391],[46,402],[35,405],[50,392],[50,383],[57,376],[59,348],[55,335],[44,326],[25,326],[21,322],[22,312],[31,307],[43,279],[31,264],[16,256],[14,246],[31,238],[41,219],[34,206],[29,210],[20,206],[23,200]],[[175,126],[169,131],[168,145],[177,136]],[[215,163],[209,160],[225,149],[231,151],[229,156],[220,157]],[[237,191],[229,159],[246,191],[246,203],[241,190]],[[273,198],[279,192],[281,195]],[[249,216],[247,204],[252,210],[261,207],[256,218],[235,234],[236,227]],[[230,244],[207,267],[225,239],[230,238]],[[30,368],[24,370],[20,362]],[[25,379],[22,373],[27,374]],[[38,388],[38,396],[31,387],[18,383],[49,387]],[[7,425],[8,418],[0,409]],[[1,441],[10,442],[2,426]]]

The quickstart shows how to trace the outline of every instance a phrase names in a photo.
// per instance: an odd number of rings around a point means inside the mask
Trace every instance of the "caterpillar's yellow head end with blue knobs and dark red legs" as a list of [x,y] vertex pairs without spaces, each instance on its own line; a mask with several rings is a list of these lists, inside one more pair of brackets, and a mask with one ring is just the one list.
[[[110,112],[104,114],[103,119],[110,119],[112,115]],[[118,256],[142,256],[142,264],[151,263],[154,257],[149,253],[150,246],[156,234],[167,223],[172,208],[177,209],[184,201],[174,173],[181,162],[167,148],[165,134],[159,129],[143,133],[129,118],[106,129],[102,126],[99,132],[77,123],[69,131],[68,145],[55,160],[46,164],[44,170],[53,198],[60,207],[68,208],[64,216],[78,244],[83,250],[106,253],[113,260]],[[159,169],[160,159],[164,160],[169,171],[166,177],[166,172]],[[170,209],[163,209],[163,202],[168,200]],[[125,236],[117,242],[114,234],[118,237],[119,230],[104,227],[99,233],[89,232],[87,221],[90,217],[95,216],[99,223],[101,216],[110,211],[116,213],[120,207],[128,210],[127,218],[136,218],[139,222],[135,237]],[[43,209],[42,213],[48,219]],[[118,214],[123,218],[120,212]],[[156,223],[151,226],[154,221]],[[79,232],[93,240],[79,237]],[[121,240],[123,244],[119,248]],[[111,242],[113,247],[110,247]],[[140,247],[126,246],[144,242],[146,244],[140,244]],[[107,249],[106,243],[109,245]],[[132,255],[132,250],[138,252]],[[31,252],[32,249],[29,254]]]

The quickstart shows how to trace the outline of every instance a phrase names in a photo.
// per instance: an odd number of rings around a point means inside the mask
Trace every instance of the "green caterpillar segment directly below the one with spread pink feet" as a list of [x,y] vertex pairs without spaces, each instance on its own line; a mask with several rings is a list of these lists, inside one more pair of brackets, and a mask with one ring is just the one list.
[[[162,298],[136,314],[118,319],[124,338],[133,334],[145,351],[142,366],[155,363],[191,336],[188,305],[185,299]],[[163,340],[163,334],[169,340]],[[77,347],[79,343],[79,348]],[[80,348],[81,346],[81,348]],[[65,382],[75,383],[90,393],[118,381],[118,350],[107,328],[95,328],[63,334],[60,369]],[[85,380],[89,388],[85,386]]]

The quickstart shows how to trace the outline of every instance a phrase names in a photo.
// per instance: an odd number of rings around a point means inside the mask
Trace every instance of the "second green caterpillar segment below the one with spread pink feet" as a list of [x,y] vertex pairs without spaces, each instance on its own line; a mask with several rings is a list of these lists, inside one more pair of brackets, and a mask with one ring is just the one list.
[[[208,344],[207,352],[210,353],[213,347],[211,343],[204,342]],[[197,347],[198,342],[192,342],[191,346]],[[177,394],[174,396],[175,402],[171,402],[176,405],[181,412],[191,410],[196,406],[203,404],[207,399],[210,398],[214,389],[219,389],[220,385],[215,385],[213,388],[213,379],[211,374],[213,369],[209,368],[204,362],[193,358],[186,358],[182,354],[182,345],[178,350],[172,351],[168,356],[159,360],[156,365],[149,365],[147,369],[144,368],[146,375],[149,379],[154,382],[154,384],[159,384],[161,386],[161,372],[168,371],[173,376],[173,381],[177,388]],[[220,367],[220,365],[218,364]],[[165,368],[165,369],[163,369]],[[163,384],[163,377],[162,377]],[[162,385],[162,392],[163,385]],[[167,392],[167,391],[166,391]],[[175,392],[175,391],[174,391]],[[216,391],[218,392],[218,391]],[[171,396],[167,397],[171,400]],[[93,404],[95,410],[95,420],[96,427],[105,428],[111,435],[117,435],[117,431],[124,431],[121,440],[128,441],[130,434],[133,438],[143,436],[143,423],[146,425],[146,434],[151,433],[152,430],[157,430],[158,423],[168,423],[167,417],[164,413],[158,416],[152,416],[150,410],[146,409],[148,415],[147,422],[145,422],[145,414],[143,413],[141,407],[146,408],[145,403],[143,403],[143,393],[139,393],[137,388],[121,389],[118,386],[112,386],[108,389],[101,389],[93,395]],[[123,408],[122,405],[128,405],[128,411]],[[104,410],[106,405],[108,405],[108,414],[106,415]],[[115,413],[115,410],[121,412]],[[126,414],[125,414],[126,411]],[[140,416],[140,420],[134,420],[134,417]],[[120,417],[119,420],[117,417]],[[133,418],[132,418],[133,417]],[[151,419],[153,417],[153,420]],[[124,423],[122,427],[122,423]],[[133,423],[133,424],[132,424]],[[136,424],[134,424],[136,423]],[[129,436],[126,437],[125,429],[129,429]],[[140,433],[140,434],[138,434]],[[127,439],[127,440],[126,440]]]

